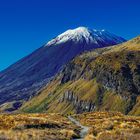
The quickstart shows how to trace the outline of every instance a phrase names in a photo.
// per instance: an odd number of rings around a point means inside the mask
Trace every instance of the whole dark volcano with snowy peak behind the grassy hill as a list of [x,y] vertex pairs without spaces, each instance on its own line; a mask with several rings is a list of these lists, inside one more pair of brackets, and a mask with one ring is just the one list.
[[80,27],[66,31],[0,73],[0,104],[31,98],[80,53],[124,41],[104,30]]

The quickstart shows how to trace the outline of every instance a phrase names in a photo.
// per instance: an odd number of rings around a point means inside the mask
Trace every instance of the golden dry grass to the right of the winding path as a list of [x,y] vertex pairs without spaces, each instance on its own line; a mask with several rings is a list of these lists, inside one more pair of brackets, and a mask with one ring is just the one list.
[[139,140],[140,117],[125,116],[119,112],[91,112],[75,115],[83,125],[90,127],[86,140]]

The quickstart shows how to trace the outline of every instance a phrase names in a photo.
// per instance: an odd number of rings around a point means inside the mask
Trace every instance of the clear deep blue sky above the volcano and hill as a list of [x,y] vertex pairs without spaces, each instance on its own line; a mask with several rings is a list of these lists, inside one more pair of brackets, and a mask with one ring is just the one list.
[[140,0],[0,0],[0,70],[78,26],[133,38]]

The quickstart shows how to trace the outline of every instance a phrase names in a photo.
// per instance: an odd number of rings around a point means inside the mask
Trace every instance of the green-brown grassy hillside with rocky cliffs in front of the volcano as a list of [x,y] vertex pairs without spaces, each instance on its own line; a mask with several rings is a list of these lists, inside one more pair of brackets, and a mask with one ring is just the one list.
[[74,58],[25,102],[24,112],[120,111],[140,115],[140,37]]

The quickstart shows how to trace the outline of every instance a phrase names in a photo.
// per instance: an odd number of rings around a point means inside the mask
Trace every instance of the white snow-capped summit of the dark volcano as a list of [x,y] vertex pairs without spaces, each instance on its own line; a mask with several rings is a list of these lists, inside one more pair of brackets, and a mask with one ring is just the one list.
[[105,43],[108,41],[116,44],[123,42],[124,39],[105,30],[92,30],[86,27],[78,27],[76,29],[67,30],[66,32],[60,34],[55,39],[49,41],[46,46],[58,45],[67,41],[73,41],[75,43],[85,42],[87,44],[92,43],[98,45],[99,42]]

